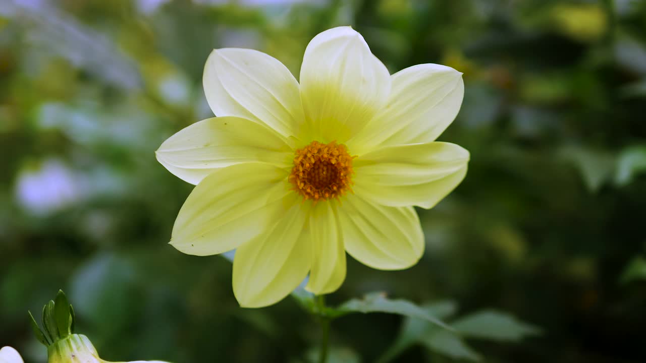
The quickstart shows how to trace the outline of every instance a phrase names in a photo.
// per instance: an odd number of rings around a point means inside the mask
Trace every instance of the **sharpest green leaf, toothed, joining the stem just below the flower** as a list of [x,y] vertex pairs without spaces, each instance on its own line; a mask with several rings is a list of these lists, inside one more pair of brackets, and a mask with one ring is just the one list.
[[370,293],[364,296],[361,300],[356,298],[349,300],[337,307],[337,309],[331,309],[330,315],[332,317],[337,317],[347,315],[349,313],[399,314],[410,316],[411,318],[426,320],[427,322],[431,322],[437,326],[452,330],[450,326],[447,326],[437,317],[412,302],[403,299],[390,300],[386,298],[384,293]]

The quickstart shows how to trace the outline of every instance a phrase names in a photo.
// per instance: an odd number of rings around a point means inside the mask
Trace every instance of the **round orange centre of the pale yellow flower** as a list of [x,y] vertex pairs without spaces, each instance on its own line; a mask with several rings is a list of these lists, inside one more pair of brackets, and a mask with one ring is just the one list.
[[312,141],[294,153],[294,167],[289,174],[293,189],[303,200],[314,202],[340,198],[352,191],[352,160],[346,145],[336,141],[325,144]]

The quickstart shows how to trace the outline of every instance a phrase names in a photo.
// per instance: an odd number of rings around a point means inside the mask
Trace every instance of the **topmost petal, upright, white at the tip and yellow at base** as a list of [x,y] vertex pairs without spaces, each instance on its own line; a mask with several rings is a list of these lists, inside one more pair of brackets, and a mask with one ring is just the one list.
[[388,69],[349,26],[315,36],[300,68],[310,136],[344,143],[386,104],[390,82]]

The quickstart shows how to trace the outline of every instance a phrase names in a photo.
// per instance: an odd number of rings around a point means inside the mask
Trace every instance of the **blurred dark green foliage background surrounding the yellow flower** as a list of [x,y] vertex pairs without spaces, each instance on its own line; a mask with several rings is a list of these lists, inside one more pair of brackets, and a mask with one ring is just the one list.
[[[308,362],[318,327],[295,300],[241,309],[227,260],[167,244],[192,186],[154,150],[212,116],[212,48],[263,50],[298,75],[309,39],[337,25],[353,25],[391,73],[464,72],[441,140],[472,161],[455,192],[419,210],[418,265],[349,260],[328,301],[385,291],[541,329],[468,340],[483,362],[646,361],[640,0],[0,0],[0,346],[45,362],[26,311],[40,316],[62,288],[108,360]],[[384,359],[408,323],[337,320],[333,359],[460,361],[432,344]]]

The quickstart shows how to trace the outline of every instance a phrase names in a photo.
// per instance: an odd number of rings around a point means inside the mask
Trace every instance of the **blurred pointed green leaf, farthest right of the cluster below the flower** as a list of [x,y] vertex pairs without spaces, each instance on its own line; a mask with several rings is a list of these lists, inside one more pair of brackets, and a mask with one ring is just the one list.
[[464,337],[502,341],[517,341],[541,333],[539,328],[495,310],[464,316],[455,320],[452,326]]

